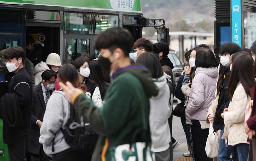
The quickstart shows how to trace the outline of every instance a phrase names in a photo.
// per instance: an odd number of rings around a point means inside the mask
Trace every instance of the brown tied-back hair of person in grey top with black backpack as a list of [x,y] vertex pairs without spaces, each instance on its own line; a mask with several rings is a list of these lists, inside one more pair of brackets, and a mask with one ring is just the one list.
[[69,81],[74,87],[81,88],[83,91],[87,90],[85,85],[80,85],[77,70],[71,64],[64,64],[60,67],[58,80],[64,84]]

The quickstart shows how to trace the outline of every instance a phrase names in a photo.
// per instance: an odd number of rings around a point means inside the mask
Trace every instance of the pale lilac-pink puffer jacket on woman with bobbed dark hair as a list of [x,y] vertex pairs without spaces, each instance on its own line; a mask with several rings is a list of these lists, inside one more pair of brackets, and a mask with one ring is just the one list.
[[217,68],[196,68],[186,111],[190,120],[205,121],[208,108],[215,98],[217,77]]

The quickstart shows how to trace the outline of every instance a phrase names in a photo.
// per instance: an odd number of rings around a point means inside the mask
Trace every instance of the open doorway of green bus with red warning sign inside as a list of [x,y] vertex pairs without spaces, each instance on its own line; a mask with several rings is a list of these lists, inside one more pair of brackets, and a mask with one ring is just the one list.
[[[27,40],[33,38],[33,47],[26,48],[26,57],[34,64],[45,62],[51,53],[62,57],[61,19],[64,7],[23,4],[25,17],[25,48]],[[29,55],[29,56],[28,56]]]

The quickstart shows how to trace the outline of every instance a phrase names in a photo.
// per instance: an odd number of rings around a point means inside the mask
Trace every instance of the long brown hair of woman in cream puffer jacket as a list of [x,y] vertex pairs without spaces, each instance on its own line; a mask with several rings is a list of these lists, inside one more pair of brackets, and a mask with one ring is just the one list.
[[250,96],[250,88],[254,87],[256,84],[252,63],[253,59],[250,55],[241,53],[236,56],[228,81],[227,92],[231,100],[239,82],[243,85],[247,97]]

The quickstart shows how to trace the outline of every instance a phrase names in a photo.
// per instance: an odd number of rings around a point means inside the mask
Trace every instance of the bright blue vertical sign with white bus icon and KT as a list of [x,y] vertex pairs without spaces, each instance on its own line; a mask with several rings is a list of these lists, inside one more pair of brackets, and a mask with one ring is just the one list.
[[242,48],[241,0],[231,0],[232,42]]

